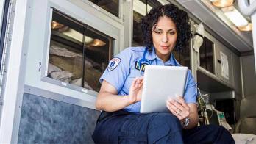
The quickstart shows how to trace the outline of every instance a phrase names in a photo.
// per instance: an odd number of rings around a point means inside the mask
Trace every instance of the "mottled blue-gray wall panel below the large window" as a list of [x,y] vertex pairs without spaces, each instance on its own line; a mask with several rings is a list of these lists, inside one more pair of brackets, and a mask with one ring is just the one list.
[[24,93],[18,143],[93,143],[99,111]]

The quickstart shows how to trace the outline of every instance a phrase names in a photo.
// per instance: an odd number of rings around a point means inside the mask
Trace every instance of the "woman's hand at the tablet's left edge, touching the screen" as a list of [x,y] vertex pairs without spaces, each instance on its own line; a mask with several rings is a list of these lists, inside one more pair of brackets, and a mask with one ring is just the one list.
[[143,77],[137,77],[132,81],[132,84],[129,87],[129,95],[127,96],[129,104],[134,104],[137,101],[141,101],[142,86]]

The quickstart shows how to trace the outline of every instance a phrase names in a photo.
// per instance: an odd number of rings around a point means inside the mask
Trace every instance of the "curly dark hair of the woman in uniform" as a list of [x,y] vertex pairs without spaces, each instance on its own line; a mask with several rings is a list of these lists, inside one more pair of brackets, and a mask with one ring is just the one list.
[[191,24],[187,12],[180,10],[174,4],[166,4],[152,8],[150,12],[142,19],[141,29],[143,34],[144,44],[147,48],[151,48],[152,42],[152,28],[156,26],[160,17],[167,16],[174,21],[177,26],[177,42],[175,45],[175,51],[182,51],[182,48],[188,45],[189,40],[192,37]]

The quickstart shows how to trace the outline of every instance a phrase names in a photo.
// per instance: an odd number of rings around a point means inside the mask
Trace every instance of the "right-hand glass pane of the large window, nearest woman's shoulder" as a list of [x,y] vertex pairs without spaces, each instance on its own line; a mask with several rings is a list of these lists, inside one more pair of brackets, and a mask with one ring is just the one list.
[[112,39],[89,27],[85,31],[85,37],[90,37],[90,40],[85,42],[84,87],[99,91],[99,78],[107,68],[112,53]]

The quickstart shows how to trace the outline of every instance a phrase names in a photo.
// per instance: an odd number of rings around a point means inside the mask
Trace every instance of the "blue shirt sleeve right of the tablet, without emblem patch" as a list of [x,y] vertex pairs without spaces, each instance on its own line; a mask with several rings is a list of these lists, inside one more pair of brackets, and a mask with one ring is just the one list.
[[186,103],[197,104],[197,102],[196,102],[197,91],[196,90],[197,90],[196,82],[193,79],[191,70],[188,70],[188,76],[187,76],[187,82],[186,82],[185,94],[184,94]]

